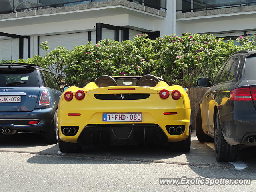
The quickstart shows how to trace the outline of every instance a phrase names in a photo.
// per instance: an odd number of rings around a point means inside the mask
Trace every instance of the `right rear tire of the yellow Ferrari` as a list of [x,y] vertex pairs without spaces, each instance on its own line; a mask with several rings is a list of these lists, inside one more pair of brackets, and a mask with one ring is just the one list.
[[169,147],[171,151],[175,152],[189,152],[191,146],[191,130],[189,128],[189,135],[183,141],[171,142],[169,143]]

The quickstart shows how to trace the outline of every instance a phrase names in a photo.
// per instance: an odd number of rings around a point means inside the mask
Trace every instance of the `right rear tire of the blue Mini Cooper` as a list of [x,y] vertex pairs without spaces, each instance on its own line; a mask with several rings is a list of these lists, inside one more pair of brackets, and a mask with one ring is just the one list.
[[44,132],[44,139],[46,142],[51,144],[58,143],[58,120],[57,120],[57,110],[54,113],[54,118],[52,120],[52,125],[50,126],[50,129],[48,129],[46,132]]

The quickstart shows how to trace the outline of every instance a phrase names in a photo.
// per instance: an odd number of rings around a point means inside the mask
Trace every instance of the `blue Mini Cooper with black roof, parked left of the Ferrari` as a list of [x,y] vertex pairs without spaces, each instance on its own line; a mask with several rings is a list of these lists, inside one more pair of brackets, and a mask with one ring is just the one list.
[[33,64],[0,64],[0,134],[43,132],[58,142],[57,107],[62,91],[49,70]]

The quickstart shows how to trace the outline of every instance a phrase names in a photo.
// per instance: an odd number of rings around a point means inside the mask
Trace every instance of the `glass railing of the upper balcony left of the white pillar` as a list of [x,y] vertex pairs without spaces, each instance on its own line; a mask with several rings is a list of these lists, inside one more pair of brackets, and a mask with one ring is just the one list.
[[[106,0],[0,0],[0,14],[86,4]],[[166,10],[166,0],[128,0],[144,6]]]

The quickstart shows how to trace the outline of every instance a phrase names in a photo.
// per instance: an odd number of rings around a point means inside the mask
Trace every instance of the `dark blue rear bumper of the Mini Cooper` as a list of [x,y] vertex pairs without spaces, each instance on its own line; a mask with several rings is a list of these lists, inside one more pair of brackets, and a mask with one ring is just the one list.
[[[45,131],[51,124],[54,117],[52,108],[35,109],[31,112],[0,112],[0,127],[10,130],[26,130],[31,132]],[[13,120],[40,120],[36,125],[17,125]],[[2,121],[1,121],[2,120]],[[6,121],[10,123],[6,123]],[[4,123],[3,123],[4,122]]]

